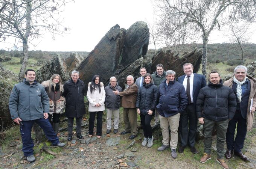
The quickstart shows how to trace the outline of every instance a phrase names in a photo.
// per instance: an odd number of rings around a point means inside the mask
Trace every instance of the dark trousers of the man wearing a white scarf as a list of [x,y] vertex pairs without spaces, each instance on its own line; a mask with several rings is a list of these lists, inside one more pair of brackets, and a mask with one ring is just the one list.
[[[237,128],[236,128],[237,123]],[[235,130],[236,138],[235,137]],[[246,119],[244,119],[241,115],[241,111],[236,111],[235,116],[232,120],[229,121],[229,126],[227,128],[226,133],[226,142],[227,142],[227,149],[234,150],[235,152],[241,152],[241,149],[244,147],[244,140],[247,133],[247,125]]]

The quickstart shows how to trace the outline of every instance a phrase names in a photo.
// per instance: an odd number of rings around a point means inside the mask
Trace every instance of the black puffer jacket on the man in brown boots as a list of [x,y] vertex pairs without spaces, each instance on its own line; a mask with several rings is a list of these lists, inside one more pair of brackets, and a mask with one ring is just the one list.
[[232,119],[236,112],[236,96],[232,88],[223,86],[222,80],[219,84],[209,82],[198,94],[196,112],[198,118],[213,121]]

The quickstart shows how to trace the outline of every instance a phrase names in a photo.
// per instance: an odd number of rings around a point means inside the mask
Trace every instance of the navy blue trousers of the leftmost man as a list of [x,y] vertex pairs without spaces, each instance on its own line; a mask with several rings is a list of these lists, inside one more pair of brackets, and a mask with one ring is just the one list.
[[20,133],[22,138],[22,151],[26,157],[34,154],[34,142],[31,138],[31,129],[34,122],[43,129],[47,139],[52,142],[53,145],[57,145],[59,143],[59,139],[54,133],[52,125],[48,119],[41,118],[31,121],[22,121],[23,125],[20,125]]

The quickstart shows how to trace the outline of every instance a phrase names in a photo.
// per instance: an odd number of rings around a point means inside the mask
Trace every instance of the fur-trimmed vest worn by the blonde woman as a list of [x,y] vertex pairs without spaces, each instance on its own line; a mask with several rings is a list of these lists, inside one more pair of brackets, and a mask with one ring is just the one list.
[[62,97],[61,91],[52,91],[49,92],[49,81],[43,81],[41,84],[44,86],[44,89],[50,99],[50,109],[49,114],[52,115],[53,113],[62,114],[64,113],[65,105],[66,105],[66,99]]

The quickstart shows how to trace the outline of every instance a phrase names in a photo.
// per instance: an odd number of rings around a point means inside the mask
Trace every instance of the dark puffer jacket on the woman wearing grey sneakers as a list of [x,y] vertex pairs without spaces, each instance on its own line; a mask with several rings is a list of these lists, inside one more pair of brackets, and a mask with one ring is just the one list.
[[137,94],[136,108],[140,109],[141,114],[148,114],[148,110],[152,110],[154,114],[155,106],[157,105],[157,92],[157,86],[152,83],[143,84],[140,87]]

